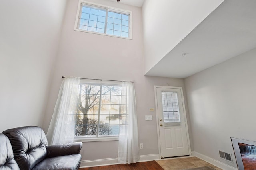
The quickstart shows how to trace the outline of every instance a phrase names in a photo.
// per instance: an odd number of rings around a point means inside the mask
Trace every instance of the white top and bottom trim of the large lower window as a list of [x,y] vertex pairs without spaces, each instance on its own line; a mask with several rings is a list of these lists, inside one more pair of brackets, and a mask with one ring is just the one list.
[[[113,82],[108,80],[87,80],[81,79],[80,82],[88,84],[100,84],[100,85],[116,85],[122,86],[122,82]],[[119,124],[120,125],[120,124]],[[74,136],[74,142],[97,142],[97,141],[118,141],[119,135],[110,135],[110,136]]]

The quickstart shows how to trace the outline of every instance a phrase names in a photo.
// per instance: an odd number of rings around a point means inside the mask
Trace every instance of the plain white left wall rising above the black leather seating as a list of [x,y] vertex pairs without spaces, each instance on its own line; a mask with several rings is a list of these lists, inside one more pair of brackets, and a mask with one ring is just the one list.
[[0,132],[42,126],[66,1],[0,1]]

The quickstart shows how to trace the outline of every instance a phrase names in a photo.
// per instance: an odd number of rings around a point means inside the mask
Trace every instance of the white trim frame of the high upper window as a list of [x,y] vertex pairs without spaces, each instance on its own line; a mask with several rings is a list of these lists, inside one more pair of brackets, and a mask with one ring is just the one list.
[[[80,11],[82,10],[82,4],[86,4],[88,6],[95,6],[98,8],[103,8],[106,9],[107,12],[118,12],[121,14],[128,14],[129,15],[129,37],[119,37],[116,35],[108,35],[106,33],[98,33],[98,32],[94,32],[94,31],[86,31],[86,30],[82,30],[82,29],[78,29],[78,24],[80,23]],[[106,18],[107,21],[107,18]],[[107,25],[107,23],[106,23]],[[106,25],[105,25],[105,29],[106,29]],[[84,0],[79,0],[78,2],[78,8],[77,8],[77,12],[76,12],[76,20],[75,20],[75,25],[74,25],[74,31],[80,31],[80,32],[86,32],[86,33],[94,33],[94,34],[99,34],[99,35],[106,35],[106,36],[110,36],[110,37],[117,37],[117,38],[123,38],[123,39],[132,39],[132,11],[129,10],[123,10],[123,9],[119,9],[119,8],[113,8],[110,6],[106,6],[106,5],[101,5],[101,4],[96,4],[96,3],[92,3],[92,2],[87,2]]]

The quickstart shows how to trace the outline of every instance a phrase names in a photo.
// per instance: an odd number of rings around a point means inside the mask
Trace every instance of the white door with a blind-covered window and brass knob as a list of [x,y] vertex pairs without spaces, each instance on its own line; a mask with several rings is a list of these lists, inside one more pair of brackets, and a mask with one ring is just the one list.
[[190,155],[181,87],[155,86],[160,157]]

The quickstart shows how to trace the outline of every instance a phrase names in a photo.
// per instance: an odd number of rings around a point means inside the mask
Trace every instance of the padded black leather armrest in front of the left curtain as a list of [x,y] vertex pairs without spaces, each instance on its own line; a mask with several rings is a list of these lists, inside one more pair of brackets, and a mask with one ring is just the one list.
[[47,147],[47,158],[64,156],[69,154],[79,154],[82,142],[65,143],[62,145],[51,145]]

